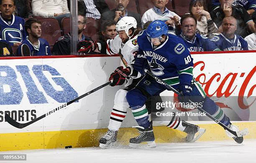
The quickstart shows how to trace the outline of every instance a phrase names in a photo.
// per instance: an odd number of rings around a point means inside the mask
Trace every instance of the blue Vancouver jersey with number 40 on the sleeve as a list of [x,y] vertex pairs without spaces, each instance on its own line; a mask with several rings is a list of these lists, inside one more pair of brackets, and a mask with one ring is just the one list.
[[146,58],[151,72],[174,87],[187,84],[193,78],[193,59],[184,41],[168,34],[166,41],[156,49],[146,35],[146,30],[138,34],[138,59]]

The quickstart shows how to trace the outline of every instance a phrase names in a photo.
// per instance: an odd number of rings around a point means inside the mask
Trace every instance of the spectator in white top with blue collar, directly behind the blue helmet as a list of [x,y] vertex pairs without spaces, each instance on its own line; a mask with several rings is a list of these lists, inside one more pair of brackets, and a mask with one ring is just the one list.
[[143,14],[141,18],[142,25],[148,21],[162,20],[168,25],[169,33],[175,35],[175,28],[180,30],[180,17],[175,12],[172,12],[165,7],[168,1],[169,0],[153,0],[154,7]]

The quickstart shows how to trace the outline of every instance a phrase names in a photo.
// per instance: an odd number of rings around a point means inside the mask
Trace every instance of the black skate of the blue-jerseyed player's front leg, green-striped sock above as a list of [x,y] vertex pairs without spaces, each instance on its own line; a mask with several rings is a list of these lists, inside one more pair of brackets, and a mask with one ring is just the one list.
[[[133,128],[137,128],[139,130],[139,133],[141,134],[139,136],[136,136],[135,138],[130,139],[130,145],[129,145],[130,147],[133,147],[133,148],[156,147],[152,121],[150,123],[149,128],[144,128],[141,126],[133,126]],[[146,142],[147,144],[141,144],[143,142]]]

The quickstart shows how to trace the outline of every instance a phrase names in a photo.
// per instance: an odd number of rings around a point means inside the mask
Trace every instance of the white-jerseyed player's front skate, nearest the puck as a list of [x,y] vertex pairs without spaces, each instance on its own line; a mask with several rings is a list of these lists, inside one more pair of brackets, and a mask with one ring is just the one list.
[[100,138],[100,148],[108,148],[113,146],[116,142],[118,131],[108,130],[108,132]]

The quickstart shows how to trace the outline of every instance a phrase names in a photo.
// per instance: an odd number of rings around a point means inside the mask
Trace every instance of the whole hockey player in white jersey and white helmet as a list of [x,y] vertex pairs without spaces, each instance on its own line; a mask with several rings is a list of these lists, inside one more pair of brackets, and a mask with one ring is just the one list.
[[[101,148],[108,148],[113,146],[116,142],[117,133],[123,122],[123,119],[126,116],[126,111],[130,107],[128,101],[126,100],[126,93],[131,89],[135,88],[143,77],[137,71],[133,71],[133,63],[135,62],[134,57],[138,52],[138,43],[137,43],[137,34],[136,31],[137,22],[133,17],[123,17],[121,20],[118,21],[116,25],[116,30],[119,32],[112,40],[107,40],[107,44],[100,44],[97,42],[80,42],[78,45],[79,52],[102,52],[103,48],[106,48],[106,53],[109,55],[112,54],[119,54],[123,64],[127,68],[118,67],[115,72],[110,75],[110,80],[113,79],[113,83],[111,86],[122,85],[126,82],[125,88],[120,89],[115,94],[114,106],[110,115],[110,122],[108,125],[108,131],[100,138],[100,147]],[[128,72],[127,69],[130,69]],[[127,76],[128,79],[127,79]],[[156,95],[157,96],[157,95]],[[147,96],[147,98],[151,98],[151,96]],[[148,113],[150,114],[150,107],[147,105]],[[171,120],[167,123],[167,127],[173,129],[179,129],[179,122],[180,118],[178,116],[171,117]],[[181,123],[180,123],[181,124]],[[199,126],[193,125],[187,122],[182,123],[186,130],[182,130],[186,132],[188,135],[185,138],[186,142],[196,141],[202,134],[205,132],[205,129],[200,130],[199,134],[195,136],[195,134],[199,131]]]

